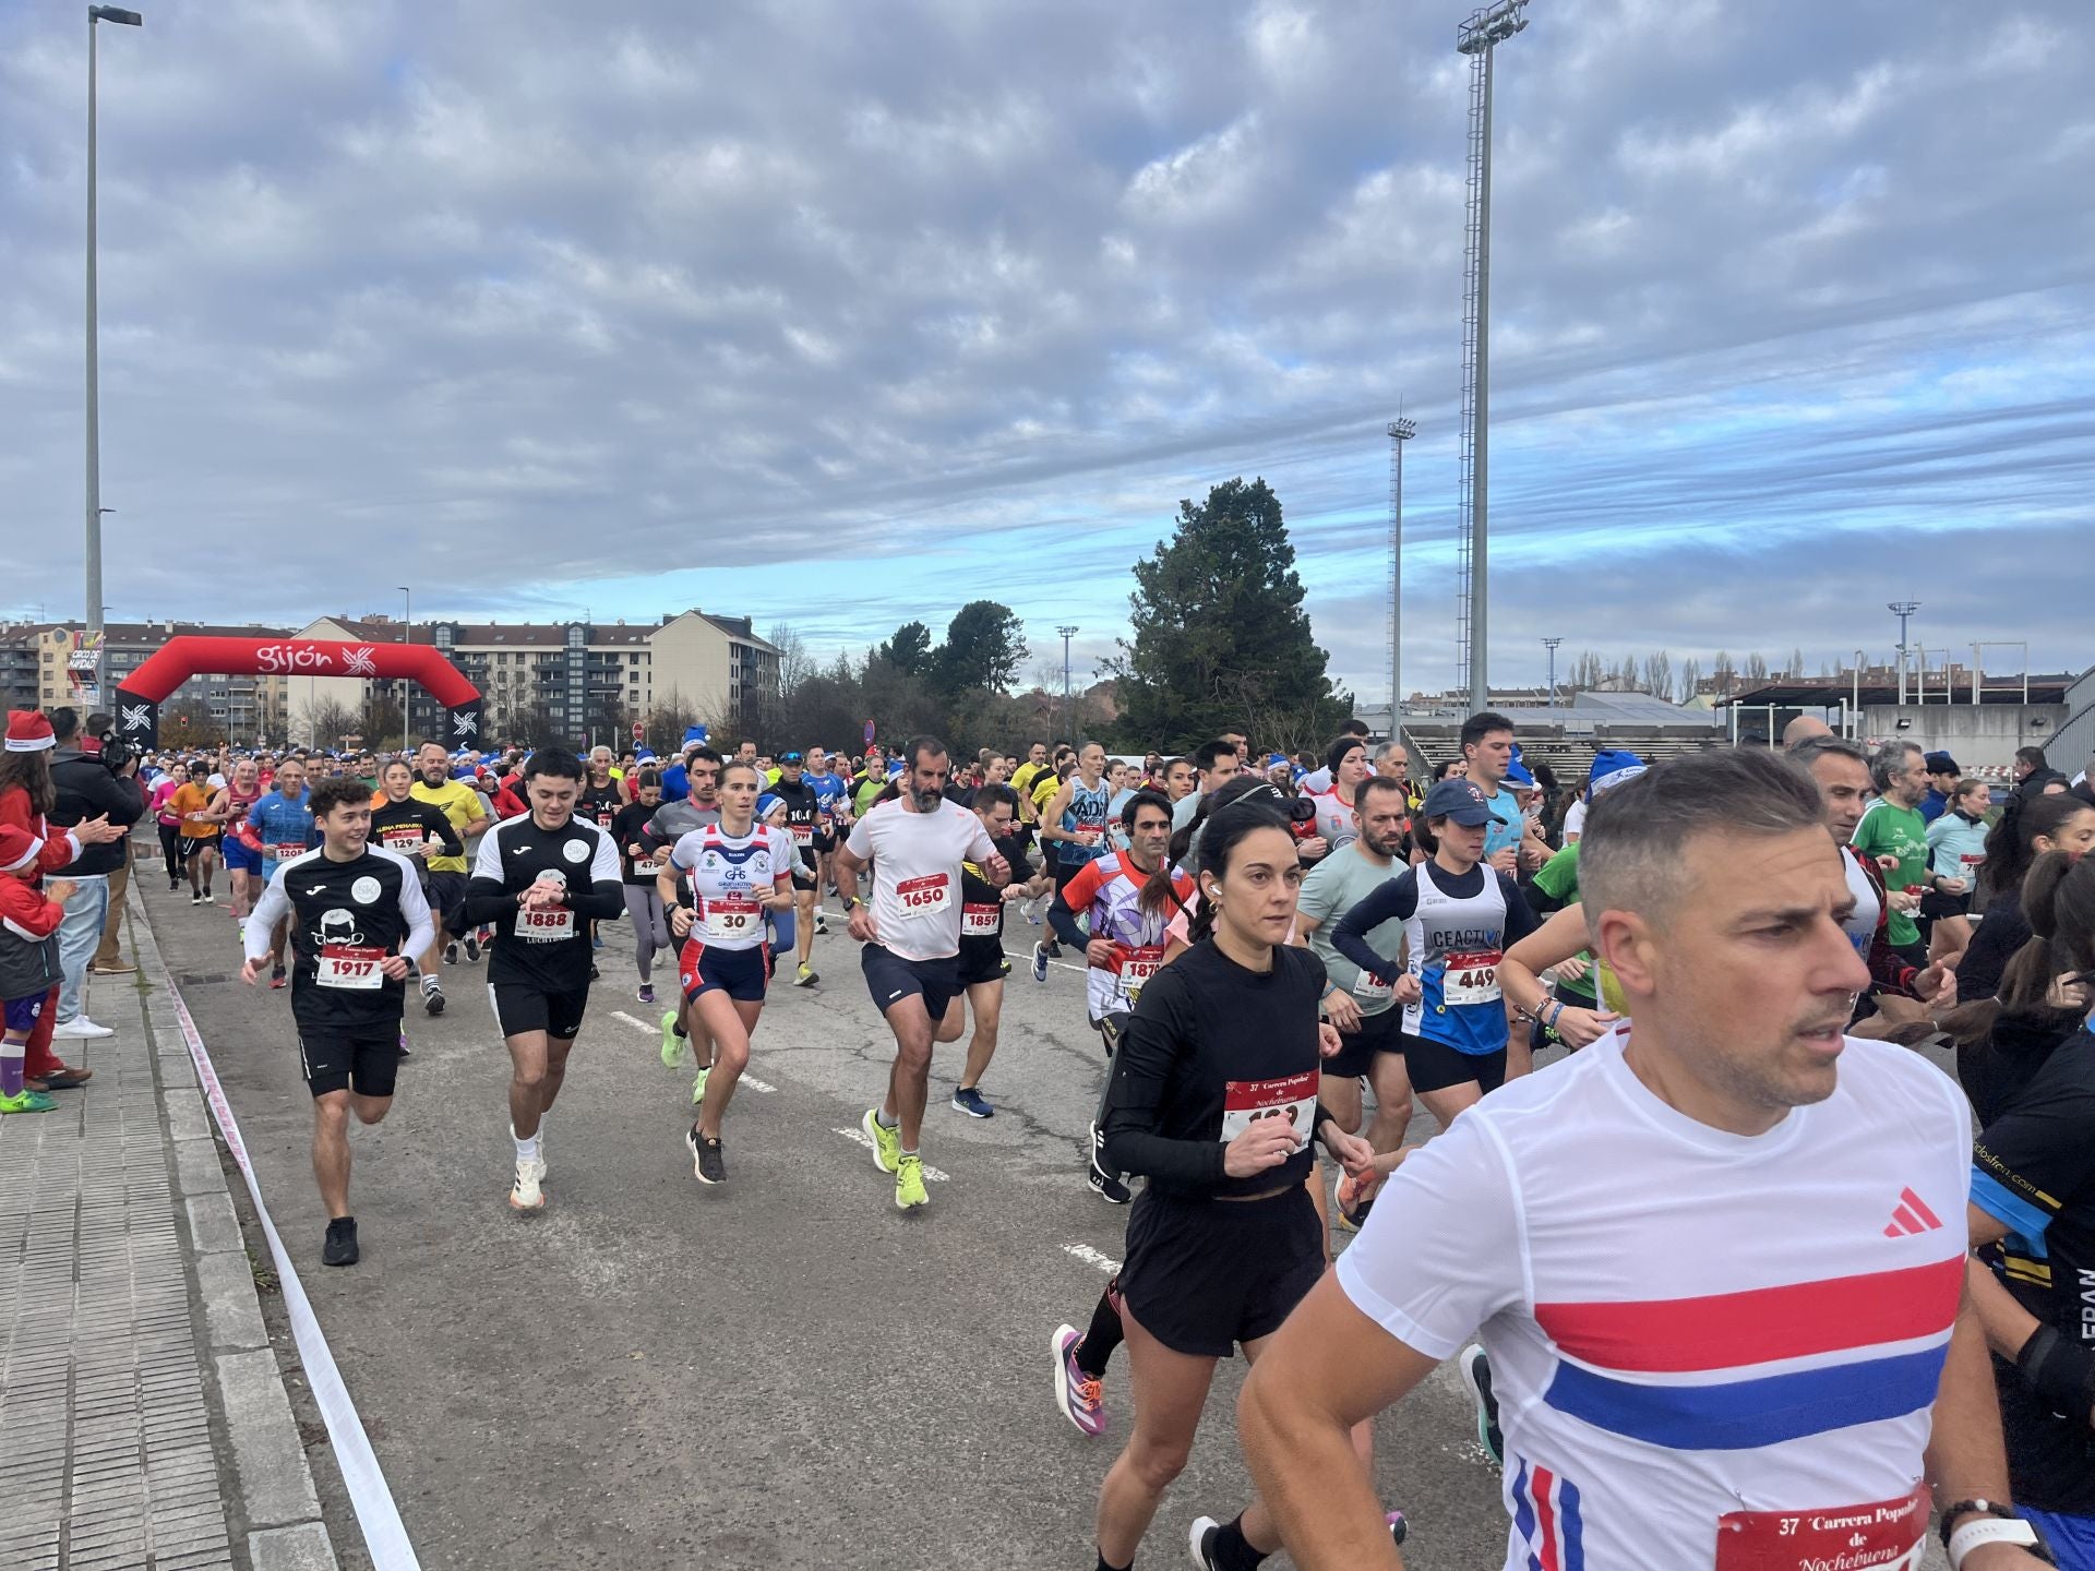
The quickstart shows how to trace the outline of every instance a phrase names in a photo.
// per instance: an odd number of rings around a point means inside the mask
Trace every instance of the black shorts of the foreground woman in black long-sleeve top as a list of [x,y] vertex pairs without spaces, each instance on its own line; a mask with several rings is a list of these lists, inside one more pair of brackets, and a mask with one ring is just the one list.
[[1316,1200],[1184,1200],[1144,1188],[1127,1217],[1127,1311],[1173,1353],[1230,1357],[1272,1336],[1324,1276]]

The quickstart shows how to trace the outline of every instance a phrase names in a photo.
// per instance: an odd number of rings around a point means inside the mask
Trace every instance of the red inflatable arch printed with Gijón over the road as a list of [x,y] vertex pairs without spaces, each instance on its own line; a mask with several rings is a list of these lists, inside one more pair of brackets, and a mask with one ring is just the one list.
[[159,706],[199,670],[256,677],[360,677],[417,681],[450,714],[453,748],[480,746],[480,689],[427,643],[339,643],[335,639],[168,639],[117,689],[117,731],[132,750],[159,746]]

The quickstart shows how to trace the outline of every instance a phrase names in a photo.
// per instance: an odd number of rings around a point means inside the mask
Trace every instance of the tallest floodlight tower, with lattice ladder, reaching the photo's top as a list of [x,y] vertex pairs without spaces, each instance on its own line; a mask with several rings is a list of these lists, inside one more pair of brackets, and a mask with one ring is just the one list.
[[1485,492],[1492,402],[1492,50],[1527,27],[1527,0],[1496,0],[1456,29],[1456,50],[1469,54],[1469,276],[1462,285],[1462,528],[1456,534],[1456,683],[1469,683],[1469,706],[1487,706],[1487,551]]

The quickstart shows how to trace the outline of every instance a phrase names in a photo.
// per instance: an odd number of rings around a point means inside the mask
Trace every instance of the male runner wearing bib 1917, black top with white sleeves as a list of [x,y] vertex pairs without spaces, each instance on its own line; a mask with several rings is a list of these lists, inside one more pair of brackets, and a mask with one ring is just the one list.
[[312,1089],[312,1175],[327,1204],[325,1265],[356,1263],[350,1215],[350,1112],[377,1123],[392,1108],[400,1064],[400,1010],[417,957],[436,943],[421,876],[396,850],[371,846],[371,792],[360,779],[312,788],[321,846],[277,869],[247,922],[253,987],[270,934],[291,917],[291,1018]]

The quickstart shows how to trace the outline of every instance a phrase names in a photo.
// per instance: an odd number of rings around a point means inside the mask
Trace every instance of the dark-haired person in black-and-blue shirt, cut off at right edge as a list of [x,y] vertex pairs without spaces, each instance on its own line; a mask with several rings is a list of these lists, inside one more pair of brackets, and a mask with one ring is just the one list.
[[[2051,1018],[2020,1083],[1984,1112],[1971,1154],[1971,1305],[1992,1349],[2015,1506],[2061,1567],[2095,1567],[2095,859],[2045,853],[2024,880],[2032,936],[2009,961],[2001,1020]],[[1955,1552],[1955,1544],[1953,1544]]]

